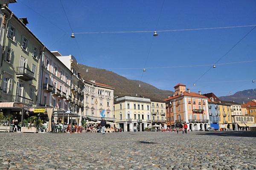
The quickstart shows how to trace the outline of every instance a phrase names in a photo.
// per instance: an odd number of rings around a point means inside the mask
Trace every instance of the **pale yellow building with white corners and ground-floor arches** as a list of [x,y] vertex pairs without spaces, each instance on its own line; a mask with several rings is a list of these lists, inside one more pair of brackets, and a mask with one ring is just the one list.
[[144,131],[151,125],[150,99],[132,96],[123,96],[114,102],[114,114],[116,126],[125,132]]

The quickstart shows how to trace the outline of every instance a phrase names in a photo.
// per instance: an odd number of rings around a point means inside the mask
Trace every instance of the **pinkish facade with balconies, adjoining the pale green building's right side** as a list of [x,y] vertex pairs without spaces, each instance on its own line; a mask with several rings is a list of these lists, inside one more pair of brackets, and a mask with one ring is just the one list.
[[70,111],[72,72],[46,48],[41,70],[40,105]]

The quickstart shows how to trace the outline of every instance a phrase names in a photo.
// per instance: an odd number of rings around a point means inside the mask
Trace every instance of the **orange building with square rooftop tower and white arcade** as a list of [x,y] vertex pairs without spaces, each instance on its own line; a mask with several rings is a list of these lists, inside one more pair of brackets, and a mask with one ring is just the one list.
[[205,130],[209,127],[207,97],[201,92],[186,91],[186,85],[174,86],[175,94],[165,99],[167,127],[174,128],[176,123],[188,124],[189,130]]

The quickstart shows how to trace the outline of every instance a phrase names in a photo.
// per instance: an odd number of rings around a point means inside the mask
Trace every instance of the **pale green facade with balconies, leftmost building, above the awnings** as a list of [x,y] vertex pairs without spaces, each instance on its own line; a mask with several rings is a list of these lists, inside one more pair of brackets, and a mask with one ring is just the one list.
[[[1,60],[1,102],[18,102],[26,106],[38,105],[38,85],[41,54],[44,45],[26,27],[26,18],[17,18],[9,8],[4,14],[5,37]],[[3,26],[3,25],[2,25]]]

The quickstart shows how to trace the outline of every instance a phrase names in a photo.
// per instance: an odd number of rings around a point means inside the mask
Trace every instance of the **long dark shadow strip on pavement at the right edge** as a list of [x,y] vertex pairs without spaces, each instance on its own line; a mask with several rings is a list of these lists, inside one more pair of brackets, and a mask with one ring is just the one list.
[[196,135],[212,135],[212,136],[256,137],[256,132],[251,132],[251,131],[198,132],[195,134]]

